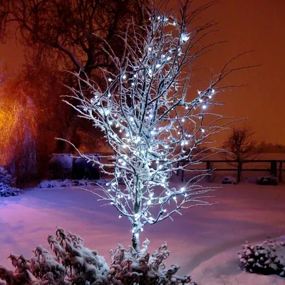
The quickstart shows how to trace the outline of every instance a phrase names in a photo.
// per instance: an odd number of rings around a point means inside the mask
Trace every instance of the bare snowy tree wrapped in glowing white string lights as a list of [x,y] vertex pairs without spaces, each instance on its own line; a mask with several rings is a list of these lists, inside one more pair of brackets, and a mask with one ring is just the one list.
[[[178,4],[177,18],[153,9],[145,25],[131,24],[125,35],[119,34],[125,43],[123,58],[105,41],[105,53],[115,68],[112,72],[100,68],[103,88],[86,74],[76,73],[81,88],[70,88],[73,95],[66,99],[79,115],[105,133],[114,152],[110,163],[79,153],[105,172],[105,167],[114,167],[109,173],[113,180],[107,188],[102,187],[103,194],[94,194],[116,207],[119,218],[128,218],[136,251],[145,224],[172,219],[172,214],[181,214],[182,209],[210,204],[202,198],[211,188],[197,184],[206,173],[178,188],[172,187],[170,177],[177,170],[193,171],[187,166],[201,162],[209,155],[207,150],[219,151],[210,145],[211,136],[227,129],[230,119],[213,112],[214,105],[221,104],[214,98],[227,90],[219,86],[220,81],[243,68],[232,69],[229,61],[203,90],[193,94],[192,65],[212,46],[203,46],[202,39],[213,23],[195,26],[196,16],[208,5],[190,11],[191,1]],[[205,145],[206,149],[196,151]],[[185,164],[177,166],[177,162]]]

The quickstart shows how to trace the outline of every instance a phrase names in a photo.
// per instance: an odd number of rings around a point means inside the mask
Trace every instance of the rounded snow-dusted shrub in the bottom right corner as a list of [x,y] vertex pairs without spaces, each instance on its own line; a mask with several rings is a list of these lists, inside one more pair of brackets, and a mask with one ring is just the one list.
[[285,277],[285,241],[244,244],[237,254],[249,272]]

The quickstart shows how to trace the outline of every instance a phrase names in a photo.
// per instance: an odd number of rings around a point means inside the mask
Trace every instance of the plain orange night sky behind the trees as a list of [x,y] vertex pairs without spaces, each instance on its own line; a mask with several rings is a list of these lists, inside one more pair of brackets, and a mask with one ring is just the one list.
[[[172,3],[176,0],[171,0]],[[197,3],[205,3],[197,0]],[[203,14],[204,21],[215,19],[220,30],[214,41],[227,40],[202,59],[203,66],[219,68],[243,51],[254,50],[237,65],[261,65],[231,76],[227,84],[246,84],[222,95],[224,115],[248,118],[256,140],[285,145],[285,0],[221,0]],[[14,33],[0,45],[0,62],[9,73],[24,63],[21,45]],[[226,135],[226,134],[224,134]],[[224,139],[224,135],[219,140]]]

